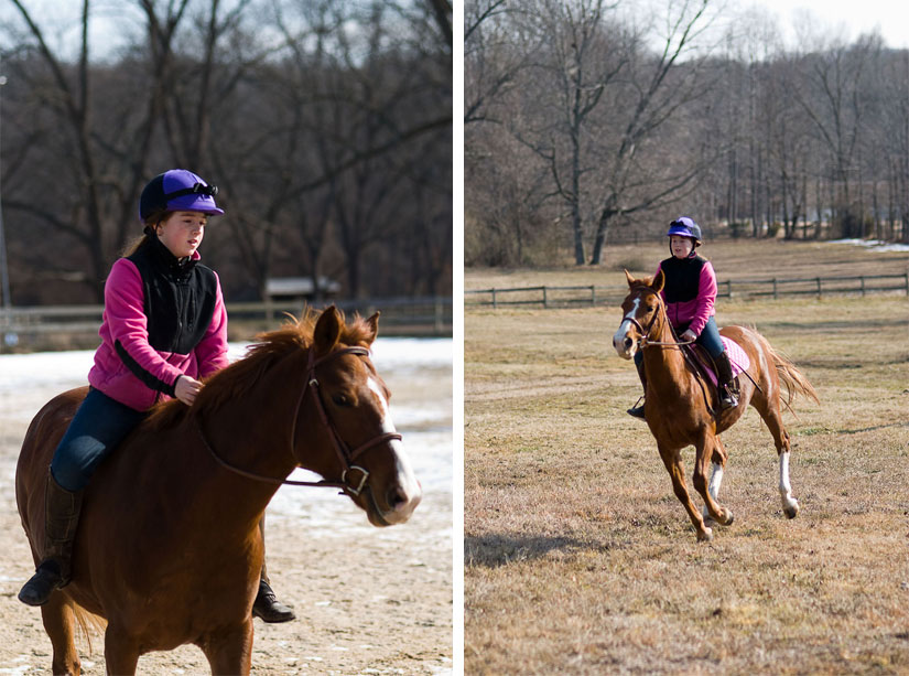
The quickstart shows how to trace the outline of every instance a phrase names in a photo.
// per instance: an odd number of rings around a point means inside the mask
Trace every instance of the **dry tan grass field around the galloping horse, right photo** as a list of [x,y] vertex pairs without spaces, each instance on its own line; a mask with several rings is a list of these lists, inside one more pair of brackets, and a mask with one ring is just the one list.
[[[706,254],[721,279],[902,272],[909,258],[789,246]],[[468,270],[465,287],[623,285],[623,266],[649,273],[665,256],[608,255],[597,269]],[[695,541],[647,426],[625,414],[640,385],[612,347],[619,316],[467,312],[465,673],[909,673],[906,296],[719,303],[719,324],[754,324],[821,405],[797,400],[784,417],[794,521],[757,414],[723,436],[721,502],[736,521],[710,544]]]

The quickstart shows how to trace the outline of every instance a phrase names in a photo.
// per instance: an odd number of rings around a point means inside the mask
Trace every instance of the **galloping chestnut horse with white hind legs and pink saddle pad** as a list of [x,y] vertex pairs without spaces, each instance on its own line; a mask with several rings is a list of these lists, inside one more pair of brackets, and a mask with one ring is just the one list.
[[[626,360],[632,358],[638,350],[643,351],[647,374],[645,418],[657,439],[660,458],[672,478],[675,496],[697,530],[697,539],[713,538],[711,524],[728,526],[733,523],[733,513],[718,502],[727,458],[719,434],[742,417],[749,404],[773,436],[779,457],[782,509],[789,518],[794,518],[799,513],[799,503],[792,497],[789,483],[790,447],[780,411],[780,382],[786,385],[788,393],[787,406],[797,394],[818,401],[814,388],[757,331],[745,326],[726,326],[719,333],[745,351],[750,366],[739,376],[738,406],[714,415],[713,410],[718,409],[715,393],[711,394],[703,378],[688,368],[681,346],[669,324],[665,305],[660,297],[664,283],[662,270],[656,278],[635,279],[627,270],[625,276],[630,292],[621,303],[624,316],[613,336],[613,346]],[[707,399],[711,398],[713,400],[708,408]],[[688,446],[694,446],[696,450],[692,480],[694,489],[704,500],[703,515],[694,506],[685,486],[681,451]],[[713,464],[710,484],[706,480],[708,461]]]

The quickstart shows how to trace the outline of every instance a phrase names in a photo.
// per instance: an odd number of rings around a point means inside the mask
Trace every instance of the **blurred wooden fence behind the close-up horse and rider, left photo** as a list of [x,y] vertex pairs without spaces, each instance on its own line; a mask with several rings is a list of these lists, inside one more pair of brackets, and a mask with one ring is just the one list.
[[[368,316],[381,312],[380,335],[452,335],[451,298],[386,298],[336,301],[335,305],[348,314],[359,312]],[[285,313],[300,316],[302,311],[302,305],[290,303],[228,303],[228,328],[248,326],[252,334],[277,326]],[[0,308],[0,352],[97,342],[102,312],[101,305]]]

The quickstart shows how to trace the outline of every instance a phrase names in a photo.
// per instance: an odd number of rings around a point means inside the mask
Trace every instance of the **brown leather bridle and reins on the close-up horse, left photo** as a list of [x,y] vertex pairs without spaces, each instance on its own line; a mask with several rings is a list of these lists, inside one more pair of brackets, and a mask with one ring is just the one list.
[[[279,485],[292,485],[292,486],[318,486],[318,487],[329,487],[329,489],[342,489],[350,493],[351,495],[359,495],[364,487],[368,487],[366,485],[367,480],[369,479],[369,472],[362,468],[361,465],[354,464],[354,461],[357,460],[360,455],[362,455],[369,449],[377,447],[381,443],[386,443],[387,441],[392,441],[394,439],[401,439],[401,434],[398,432],[386,432],[383,434],[379,434],[355,448],[353,451],[347,447],[344,442],[344,439],[340,438],[340,434],[337,431],[332,419],[328,417],[328,412],[325,410],[325,404],[322,401],[322,397],[318,394],[318,379],[315,377],[315,369],[318,368],[325,362],[329,360],[334,360],[343,354],[359,354],[362,356],[368,356],[369,351],[366,347],[342,347],[339,350],[335,350],[334,352],[329,352],[326,355],[323,355],[318,358],[315,356],[315,348],[310,347],[310,357],[309,363],[306,364],[306,380],[303,385],[303,390],[300,393],[300,397],[296,400],[296,406],[294,407],[294,415],[293,415],[293,425],[291,426],[291,438],[290,438],[290,448],[291,454],[293,454],[294,441],[296,440],[296,423],[300,419],[300,410],[303,406],[303,399],[306,397],[307,391],[313,393],[313,399],[315,400],[316,410],[318,411],[318,417],[322,420],[323,426],[328,430],[328,437],[332,439],[332,444],[334,446],[335,453],[340,460],[340,465],[344,468],[340,473],[340,481],[291,481],[290,479],[277,479],[274,476],[263,476],[261,474],[256,474],[253,472],[248,472],[246,470],[241,470],[240,468],[234,466],[226,460],[224,460],[212,444],[206,439],[205,433],[202,430],[202,426],[198,422],[198,418],[196,417],[196,429],[198,430],[199,437],[202,438],[205,448],[208,449],[208,452],[212,453],[212,457],[220,464],[223,468],[230,470],[241,476],[246,476],[247,479],[253,479],[256,481],[263,481],[266,483],[273,483]],[[359,472],[359,481],[354,481],[350,476],[350,472],[356,471]]]

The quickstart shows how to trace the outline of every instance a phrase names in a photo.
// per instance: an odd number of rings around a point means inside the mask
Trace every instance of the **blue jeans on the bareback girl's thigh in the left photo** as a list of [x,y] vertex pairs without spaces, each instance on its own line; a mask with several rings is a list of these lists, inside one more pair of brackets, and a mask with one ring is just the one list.
[[130,408],[94,387],[79,406],[51,461],[51,474],[67,491],[88,485],[98,463],[117,448],[148,414]]

